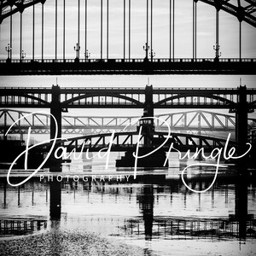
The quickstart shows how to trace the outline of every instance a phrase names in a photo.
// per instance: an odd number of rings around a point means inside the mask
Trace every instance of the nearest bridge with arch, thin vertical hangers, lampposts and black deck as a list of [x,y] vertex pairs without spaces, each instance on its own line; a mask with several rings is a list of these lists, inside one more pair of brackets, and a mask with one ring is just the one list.
[[[0,75],[256,73],[256,56],[242,56],[241,40],[241,24],[256,27],[254,0],[234,3],[194,0],[183,6],[175,0],[162,3],[124,0],[116,3],[119,15],[113,15],[112,3],[112,0],[96,4],[87,0],[72,4],[65,0],[61,3],[57,0],[55,3],[2,1],[0,38],[4,39],[0,41]],[[215,27],[202,31],[197,9],[207,5],[212,7]],[[75,13],[73,20],[68,15],[70,8]],[[139,15],[138,8],[141,9]],[[164,31],[157,26],[162,9],[165,9],[161,20],[161,26],[166,27]],[[178,44],[181,41],[178,12],[183,9],[189,9],[186,16],[192,24],[189,28],[183,24],[183,31],[190,35],[186,56]],[[223,38],[219,32],[222,21],[219,13],[224,14],[224,18],[237,19],[236,55],[221,57],[219,42]],[[49,24],[54,26],[49,29]],[[201,32],[209,29],[214,34],[212,44],[202,44]],[[229,52],[226,45],[229,43],[222,42],[225,44],[222,47]],[[5,51],[7,57],[4,57]],[[202,55],[203,51],[208,52],[207,55]]]

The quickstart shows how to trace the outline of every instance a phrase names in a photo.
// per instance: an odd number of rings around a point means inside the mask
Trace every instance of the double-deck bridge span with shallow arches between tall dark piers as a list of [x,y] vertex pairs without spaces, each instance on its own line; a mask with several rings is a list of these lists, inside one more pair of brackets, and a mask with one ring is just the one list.
[[[243,87],[242,87],[243,88]],[[247,111],[256,108],[256,90],[244,89]],[[222,108],[234,111],[241,88],[152,88],[153,108]],[[67,108],[144,108],[143,88],[1,88],[0,108],[50,108],[54,95]]]

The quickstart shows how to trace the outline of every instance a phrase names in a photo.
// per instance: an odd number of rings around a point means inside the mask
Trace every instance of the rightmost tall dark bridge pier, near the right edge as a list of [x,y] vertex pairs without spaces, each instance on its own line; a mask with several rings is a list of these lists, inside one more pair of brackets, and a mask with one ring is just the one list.
[[238,143],[238,154],[244,154],[247,150],[247,87],[240,86],[237,90],[236,143]]

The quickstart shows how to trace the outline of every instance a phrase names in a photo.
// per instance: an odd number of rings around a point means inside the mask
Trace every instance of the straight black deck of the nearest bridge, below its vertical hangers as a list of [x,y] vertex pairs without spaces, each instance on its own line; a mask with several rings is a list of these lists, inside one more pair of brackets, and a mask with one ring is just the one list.
[[256,74],[256,59],[2,60],[0,75]]

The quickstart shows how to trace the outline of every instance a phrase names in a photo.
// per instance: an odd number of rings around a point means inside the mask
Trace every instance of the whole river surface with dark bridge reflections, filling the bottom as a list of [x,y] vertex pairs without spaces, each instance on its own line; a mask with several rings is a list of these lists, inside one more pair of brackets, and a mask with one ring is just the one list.
[[[107,171],[104,160],[74,161],[63,166],[61,182],[41,172],[18,187],[2,172],[0,254],[255,255],[255,170],[226,166],[211,189],[195,193],[181,179],[189,163],[172,158],[168,169],[138,169],[134,179],[114,160]],[[185,181],[207,189],[214,173],[196,167]]]

